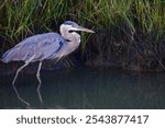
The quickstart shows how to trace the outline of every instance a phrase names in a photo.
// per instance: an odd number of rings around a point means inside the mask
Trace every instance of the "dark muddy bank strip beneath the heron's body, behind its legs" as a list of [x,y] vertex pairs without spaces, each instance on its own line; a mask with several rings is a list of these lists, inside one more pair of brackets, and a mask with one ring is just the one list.
[[[0,61],[0,75],[15,74],[16,70],[23,66],[23,61],[12,61],[4,63]],[[44,60],[42,65],[42,71],[57,71],[65,70],[73,67],[82,66],[84,62],[77,58],[77,54],[73,54],[69,57],[62,59],[58,62]],[[25,67],[21,73],[36,73],[38,62],[32,62]]]

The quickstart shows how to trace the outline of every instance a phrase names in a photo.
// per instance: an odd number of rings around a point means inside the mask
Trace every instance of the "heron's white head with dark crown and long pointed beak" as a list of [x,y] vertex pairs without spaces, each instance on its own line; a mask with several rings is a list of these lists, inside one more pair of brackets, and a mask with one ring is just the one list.
[[66,21],[61,25],[61,31],[68,31],[68,32],[77,32],[77,31],[81,31],[81,32],[88,32],[88,33],[95,33],[94,31],[79,26],[78,24],[76,24],[75,22],[72,21]]

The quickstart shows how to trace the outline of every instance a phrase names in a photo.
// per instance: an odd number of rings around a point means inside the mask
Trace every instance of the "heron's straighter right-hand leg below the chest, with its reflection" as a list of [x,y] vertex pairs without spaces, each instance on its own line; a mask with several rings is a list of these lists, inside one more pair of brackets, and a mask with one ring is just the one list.
[[42,67],[42,61],[40,61],[38,63],[38,68],[37,68],[37,73],[36,73],[36,78],[38,80],[38,85],[37,85],[37,94],[38,94],[38,98],[40,98],[40,102],[43,104],[43,98],[42,98],[42,95],[41,95],[41,84],[42,84],[42,81],[41,81],[41,77],[40,77],[40,71],[41,71],[41,67]]

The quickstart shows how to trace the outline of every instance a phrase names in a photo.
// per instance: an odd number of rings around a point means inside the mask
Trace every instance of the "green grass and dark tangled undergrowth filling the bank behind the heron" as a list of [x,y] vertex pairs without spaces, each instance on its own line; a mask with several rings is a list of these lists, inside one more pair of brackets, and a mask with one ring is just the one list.
[[86,58],[114,55],[122,66],[154,61],[164,68],[164,0],[1,0],[0,55],[30,35],[58,32],[66,20],[97,32],[82,35]]

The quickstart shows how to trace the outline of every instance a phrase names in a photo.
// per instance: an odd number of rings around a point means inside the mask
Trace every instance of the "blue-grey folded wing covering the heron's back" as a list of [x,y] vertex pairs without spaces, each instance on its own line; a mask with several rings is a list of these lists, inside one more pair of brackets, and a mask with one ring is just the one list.
[[59,48],[65,44],[65,39],[57,33],[46,33],[31,36],[2,56],[3,62],[9,61],[38,61],[52,59]]

